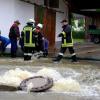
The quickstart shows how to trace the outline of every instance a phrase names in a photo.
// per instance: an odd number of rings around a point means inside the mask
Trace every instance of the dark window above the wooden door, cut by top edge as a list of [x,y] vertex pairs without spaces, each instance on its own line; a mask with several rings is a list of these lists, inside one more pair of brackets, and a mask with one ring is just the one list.
[[44,0],[44,5],[53,8],[59,8],[59,0]]

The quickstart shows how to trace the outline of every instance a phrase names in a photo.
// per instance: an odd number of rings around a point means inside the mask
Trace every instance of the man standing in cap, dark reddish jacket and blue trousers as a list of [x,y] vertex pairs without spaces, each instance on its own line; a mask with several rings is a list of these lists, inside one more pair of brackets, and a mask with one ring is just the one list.
[[18,20],[14,21],[14,24],[10,28],[9,38],[11,41],[11,57],[16,57],[17,52],[17,40],[20,38],[20,31],[19,31],[20,22]]

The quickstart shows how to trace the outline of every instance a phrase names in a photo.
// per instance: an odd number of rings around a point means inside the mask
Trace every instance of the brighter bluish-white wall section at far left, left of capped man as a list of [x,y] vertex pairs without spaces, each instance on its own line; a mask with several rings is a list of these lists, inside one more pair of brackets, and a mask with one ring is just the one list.
[[0,0],[0,30],[2,35],[8,36],[9,27],[14,18],[14,0]]

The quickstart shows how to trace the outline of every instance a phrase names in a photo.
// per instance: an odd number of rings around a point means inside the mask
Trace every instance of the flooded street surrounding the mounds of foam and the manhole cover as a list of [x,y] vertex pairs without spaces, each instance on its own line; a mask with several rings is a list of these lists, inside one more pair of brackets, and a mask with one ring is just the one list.
[[100,100],[100,62],[82,61],[71,63],[63,59],[54,64],[51,58],[32,59],[23,61],[22,58],[0,58],[0,74],[9,69],[21,68],[31,72],[37,72],[41,68],[56,69],[64,78],[71,77],[80,83],[79,92],[44,92],[27,93],[23,91],[0,92],[0,100]]

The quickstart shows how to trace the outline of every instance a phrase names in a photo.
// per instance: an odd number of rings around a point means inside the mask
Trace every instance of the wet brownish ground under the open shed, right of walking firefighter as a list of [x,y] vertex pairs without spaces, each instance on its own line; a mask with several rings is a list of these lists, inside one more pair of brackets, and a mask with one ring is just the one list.
[[75,51],[79,58],[89,58],[100,61],[100,44],[94,44],[91,42],[75,44]]

